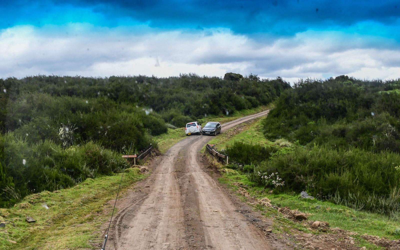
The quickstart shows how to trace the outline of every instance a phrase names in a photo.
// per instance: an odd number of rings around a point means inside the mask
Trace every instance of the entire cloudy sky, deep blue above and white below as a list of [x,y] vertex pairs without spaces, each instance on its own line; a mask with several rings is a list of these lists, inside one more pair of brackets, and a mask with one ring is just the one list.
[[0,78],[400,77],[400,1],[3,1]]

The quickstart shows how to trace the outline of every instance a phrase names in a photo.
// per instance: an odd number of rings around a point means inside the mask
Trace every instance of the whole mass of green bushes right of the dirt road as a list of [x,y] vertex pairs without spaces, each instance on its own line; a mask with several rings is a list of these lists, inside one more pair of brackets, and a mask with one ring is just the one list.
[[399,83],[346,76],[300,80],[278,98],[264,120],[264,134],[304,147],[262,162],[255,171],[278,172],[289,190],[398,217]]

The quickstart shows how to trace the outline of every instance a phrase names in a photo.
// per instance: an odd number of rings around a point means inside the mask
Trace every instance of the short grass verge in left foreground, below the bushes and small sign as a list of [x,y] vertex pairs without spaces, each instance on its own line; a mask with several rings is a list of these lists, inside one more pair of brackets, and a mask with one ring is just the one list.
[[[122,192],[143,178],[138,168],[126,169]],[[0,228],[0,250],[98,248],[101,226],[112,212],[107,202],[115,199],[120,180],[121,174],[89,178],[73,188],[32,194],[13,208],[0,209],[6,225]],[[26,222],[27,216],[36,222]]]

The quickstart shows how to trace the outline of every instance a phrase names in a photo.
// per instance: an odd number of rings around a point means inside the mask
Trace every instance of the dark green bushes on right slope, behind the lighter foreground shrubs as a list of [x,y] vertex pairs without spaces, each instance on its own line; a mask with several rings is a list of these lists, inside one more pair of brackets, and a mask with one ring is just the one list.
[[[400,80],[300,80],[264,120],[268,139],[400,152]],[[386,90],[390,89],[390,90]]]

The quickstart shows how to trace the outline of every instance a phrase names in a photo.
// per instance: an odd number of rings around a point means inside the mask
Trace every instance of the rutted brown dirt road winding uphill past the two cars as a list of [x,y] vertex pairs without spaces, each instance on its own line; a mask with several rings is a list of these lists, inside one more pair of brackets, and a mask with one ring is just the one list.
[[[224,130],[264,111],[222,124]],[[118,200],[106,249],[282,249],[202,169],[212,136],[188,136],[152,162],[152,174]]]

